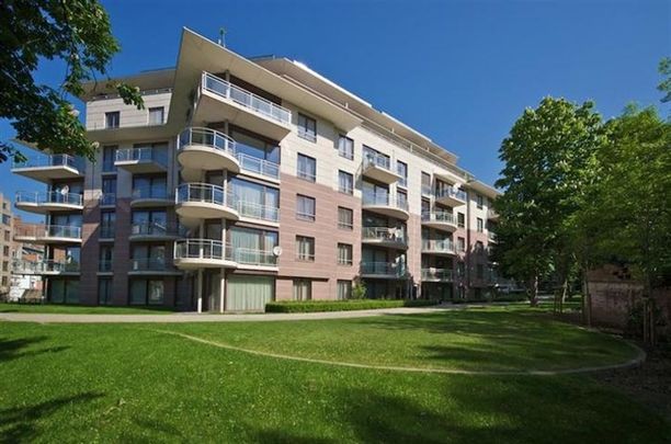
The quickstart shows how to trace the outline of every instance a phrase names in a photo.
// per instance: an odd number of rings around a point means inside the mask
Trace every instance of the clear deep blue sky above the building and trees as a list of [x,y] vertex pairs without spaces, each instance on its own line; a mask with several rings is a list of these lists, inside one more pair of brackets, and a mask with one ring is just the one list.
[[[609,118],[629,102],[657,105],[657,65],[671,56],[664,0],[102,3],[122,46],[113,76],[174,66],[182,26],[214,41],[224,26],[236,53],[306,64],[457,155],[487,183],[525,107],[546,95],[593,100]],[[47,65],[35,77],[58,84],[62,68]],[[12,136],[0,121],[0,139]],[[0,192],[12,197],[43,189],[7,162],[0,178]]]

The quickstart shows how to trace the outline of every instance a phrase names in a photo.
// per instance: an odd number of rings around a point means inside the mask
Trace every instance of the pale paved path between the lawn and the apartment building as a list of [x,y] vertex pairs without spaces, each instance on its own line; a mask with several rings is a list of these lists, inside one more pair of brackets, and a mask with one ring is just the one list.
[[173,315],[75,315],[75,314],[33,314],[0,312],[0,321],[39,323],[179,323],[179,322],[257,322],[283,320],[349,319],[368,318],[385,315],[421,315],[435,311],[464,309],[469,305],[445,305],[440,307],[400,307],[376,310],[321,311],[296,314],[258,315],[198,315],[180,312]]

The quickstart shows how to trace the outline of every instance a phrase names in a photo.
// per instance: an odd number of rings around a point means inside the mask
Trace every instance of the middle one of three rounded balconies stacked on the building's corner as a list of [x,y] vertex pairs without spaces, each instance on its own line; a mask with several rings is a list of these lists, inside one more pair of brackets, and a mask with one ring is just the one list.
[[239,214],[231,194],[211,183],[183,183],[178,186],[175,212],[185,223],[198,219],[226,218],[238,220]]

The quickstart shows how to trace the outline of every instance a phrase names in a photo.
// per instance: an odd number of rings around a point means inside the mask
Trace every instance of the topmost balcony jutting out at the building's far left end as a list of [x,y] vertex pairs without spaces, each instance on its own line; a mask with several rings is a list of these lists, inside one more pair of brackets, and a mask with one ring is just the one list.
[[39,182],[79,179],[84,175],[83,159],[69,155],[36,155],[25,162],[12,162],[12,172]]

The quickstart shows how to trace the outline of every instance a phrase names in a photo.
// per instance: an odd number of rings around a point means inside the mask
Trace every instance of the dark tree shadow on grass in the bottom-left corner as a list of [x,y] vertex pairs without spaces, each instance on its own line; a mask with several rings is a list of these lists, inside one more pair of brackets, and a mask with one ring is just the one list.
[[102,394],[86,392],[37,405],[0,410],[0,442],[31,442],[41,435],[37,421],[56,413],[61,408],[73,403],[90,402],[102,396]]

